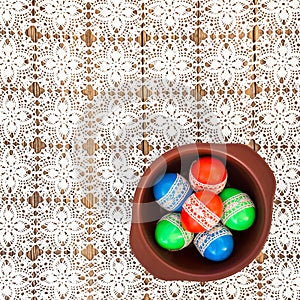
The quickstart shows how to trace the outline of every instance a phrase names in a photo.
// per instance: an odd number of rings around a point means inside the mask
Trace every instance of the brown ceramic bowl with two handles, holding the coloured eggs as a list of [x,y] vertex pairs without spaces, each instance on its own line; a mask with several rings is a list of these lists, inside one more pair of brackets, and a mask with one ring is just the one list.
[[[234,251],[222,262],[203,258],[193,244],[180,251],[160,248],[154,239],[157,221],[167,212],[154,201],[152,186],[165,172],[186,178],[191,163],[213,155],[226,164],[227,186],[247,193],[256,206],[254,224],[245,231],[232,231]],[[190,144],[176,147],[154,161],[142,176],[134,196],[130,244],[141,264],[155,277],[165,280],[209,281],[230,276],[246,267],[260,253],[272,220],[275,179],[265,161],[240,144]]]

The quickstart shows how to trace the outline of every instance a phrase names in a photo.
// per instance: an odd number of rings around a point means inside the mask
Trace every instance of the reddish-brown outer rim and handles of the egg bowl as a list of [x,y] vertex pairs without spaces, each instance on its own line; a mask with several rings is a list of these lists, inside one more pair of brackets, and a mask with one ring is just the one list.
[[[144,233],[144,229],[142,226],[141,220],[141,212],[139,209],[139,204],[143,203],[142,198],[145,192],[145,187],[147,187],[147,182],[149,180],[153,180],[153,177],[159,170],[161,170],[161,163],[167,163],[167,161],[172,160],[178,156],[178,153],[183,155],[193,155],[195,154],[195,150],[199,155],[201,153],[206,152],[207,154],[203,155],[216,155],[220,158],[225,158],[226,160],[230,158],[231,160],[235,160],[239,164],[241,164],[247,172],[252,176],[257,184],[260,192],[262,193],[264,200],[264,206],[269,206],[269,209],[264,210],[264,226],[261,232],[258,243],[255,244],[252,251],[248,256],[244,257],[241,261],[237,262],[233,267],[218,271],[212,274],[195,274],[187,271],[183,271],[177,269],[167,263],[163,258],[156,254],[155,250],[152,248],[151,244],[147,241]],[[247,164],[245,161],[237,159],[240,158],[240,152],[243,151],[243,157],[247,156]],[[162,161],[163,160],[163,161]],[[250,161],[250,163],[249,163]],[[259,165],[260,172],[255,170],[255,167]],[[265,181],[264,187],[262,186],[262,180]],[[142,265],[154,276],[164,280],[195,280],[195,281],[210,281],[222,279],[227,276],[233,275],[247,265],[249,265],[259,254],[261,249],[263,248],[268,234],[270,232],[271,222],[272,222],[272,209],[273,209],[273,198],[275,194],[275,178],[273,172],[266,164],[265,160],[260,157],[254,150],[252,150],[249,146],[244,144],[210,144],[210,143],[192,143],[183,146],[174,147],[173,149],[165,152],[160,157],[158,157],[152,164],[145,170],[142,175],[137,189],[134,194],[133,200],[133,208],[132,208],[132,223],[130,230],[130,245],[132,248],[132,252],[138,258],[138,260],[142,263]],[[142,245],[147,244],[147,260],[145,261],[144,256],[141,255],[141,251],[145,251],[145,246]],[[159,262],[161,267],[158,272],[157,268],[155,268],[155,264],[153,261]]]

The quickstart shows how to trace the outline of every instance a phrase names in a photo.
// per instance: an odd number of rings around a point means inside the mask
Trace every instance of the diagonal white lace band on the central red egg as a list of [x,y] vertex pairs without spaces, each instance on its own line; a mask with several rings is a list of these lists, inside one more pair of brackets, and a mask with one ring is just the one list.
[[183,204],[183,208],[205,230],[218,224],[220,218],[209,210],[196,196],[192,194]]

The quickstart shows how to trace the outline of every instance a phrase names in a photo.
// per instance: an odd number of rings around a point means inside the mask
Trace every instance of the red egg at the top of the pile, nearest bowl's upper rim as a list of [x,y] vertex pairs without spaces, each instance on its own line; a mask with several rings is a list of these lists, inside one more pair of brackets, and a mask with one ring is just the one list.
[[208,190],[219,194],[227,182],[224,164],[211,156],[200,157],[190,167],[189,181],[194,191]]

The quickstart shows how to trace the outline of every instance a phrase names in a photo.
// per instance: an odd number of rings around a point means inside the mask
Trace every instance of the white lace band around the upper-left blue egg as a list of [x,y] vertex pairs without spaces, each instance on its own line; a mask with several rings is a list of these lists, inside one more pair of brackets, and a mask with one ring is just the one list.
[[186,197],[190,190],[187,180],[181,175],[177,177],[169,191],[157,203],[168,211],[174,210]]

